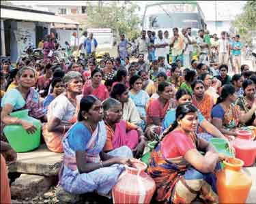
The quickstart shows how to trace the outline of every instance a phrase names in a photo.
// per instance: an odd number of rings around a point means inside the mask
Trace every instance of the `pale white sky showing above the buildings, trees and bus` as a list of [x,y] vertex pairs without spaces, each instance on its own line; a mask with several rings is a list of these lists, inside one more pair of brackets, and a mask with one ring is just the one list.
[[[94,1],[95,2],[95,1]],[[156,1],[136,1],[141,7],[141,11],[138,13],[140,16],[143,15],[145,6]],[[159,2],[159,1],[158,1]],[[215,19],[215,1],[197,1],[203,10],[206,20]],[[76,3],[81,4],[85,1],[12,1],[12,3],[18,5],[37,5],[42,3],[49,3],[50,5],[76,5]],[[222,20],[222,18],[233,18],[236,14],[242,12],[242,7],[246,1],[216,1],[217,8],[217,20]]]

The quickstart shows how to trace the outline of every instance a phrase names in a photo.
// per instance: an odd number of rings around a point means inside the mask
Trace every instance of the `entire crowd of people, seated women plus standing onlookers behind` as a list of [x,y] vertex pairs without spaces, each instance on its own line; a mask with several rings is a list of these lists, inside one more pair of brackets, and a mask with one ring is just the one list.
[[[124,165],[141,158],[147,142],[158,141],[147,169],[156,182],[156,201],[191,203],[199,196],[217,202],[214,171],[225,156],[209,141],[229,143],[239,129],[255,128],[256,73],[241,65],[239,35],[231,43],[226,32],[219,40],[203,30],[193,37],[190,28],[173,29],[171,39],[168,31],[153,34],[142,31],[132,62],[132,44],[123,34],[116,58],[106,54],[97,61],[90,34],[71,46],[73,52],[87,49],[86,64],[74,56],[57,61],[48,55],[56,46],[49,35],[44,58],[25,56],[16,67],[3,62],[1,151],[10,154],[8,160],[16,155],[3,126],[20,124],[34,133],[31,122],[11,115],[29,109],[43,124],[48,150],[64,153],[59,184],[68,192],[111,197]],[[8,187],[2,163],[1,156],[1,186],[3,181]]]

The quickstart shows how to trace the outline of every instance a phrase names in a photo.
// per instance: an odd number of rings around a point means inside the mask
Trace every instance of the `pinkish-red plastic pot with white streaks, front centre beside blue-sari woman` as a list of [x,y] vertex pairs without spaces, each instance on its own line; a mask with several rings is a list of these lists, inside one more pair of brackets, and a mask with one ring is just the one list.
[[113,203],[150,203],[156,184],[145,173],[147,165],[140,160],[132,159],[132,167],[125,167],[126,171],[120,175],[112,189]]

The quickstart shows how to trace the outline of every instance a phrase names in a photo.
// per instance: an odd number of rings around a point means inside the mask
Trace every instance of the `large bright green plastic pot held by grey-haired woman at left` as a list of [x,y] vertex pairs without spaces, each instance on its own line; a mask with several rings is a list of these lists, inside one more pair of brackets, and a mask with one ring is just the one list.
[[8,139],[10,146],[16,152],[29,152],[40,146],[40,135],[41,135],[41,122],[29,116],[29,110],[23,109],[10,114],[12,117],[17,117],[28,122],[32,122],[36,127],[36,131],[33,134],[27,133],[23,126],[20,124],[9,124],[3,129],[5,137]]

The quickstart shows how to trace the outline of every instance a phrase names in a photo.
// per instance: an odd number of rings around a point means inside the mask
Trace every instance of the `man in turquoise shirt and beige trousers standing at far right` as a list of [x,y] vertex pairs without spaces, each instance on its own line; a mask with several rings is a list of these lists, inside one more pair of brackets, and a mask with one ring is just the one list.
[[240,73],[241,67],[241,49],[242,44],[240,42],[240,35],[236,35],[236,41],[232,44],[232,55],[233,55],[233,66],[234,66],[234,73]]

